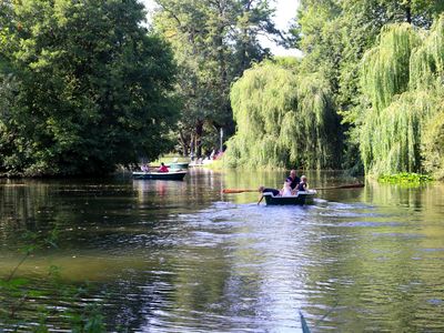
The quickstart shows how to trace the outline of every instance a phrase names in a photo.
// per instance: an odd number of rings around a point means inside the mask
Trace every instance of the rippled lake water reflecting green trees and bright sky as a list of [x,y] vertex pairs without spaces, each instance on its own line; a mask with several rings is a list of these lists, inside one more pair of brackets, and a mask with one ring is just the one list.
[[[312,186],[356,181],[309,175]],[[183,182],[2,180],[0,278],[20,262],[26,231],[56,229],[58,248],[37,250],[16,273],[42,292],[18,313],[28,325],[46,306],[62,331],[71,307],[100,303],[107,331],[300,332],[299,311],[313,332],[444,331],[443,184],[367,182],[320,192],[313,206],[221,194],[283,178],[191,170]],[[58,292],[87,281],[75,304]],[[0,310],[14,301],[0,289]]]

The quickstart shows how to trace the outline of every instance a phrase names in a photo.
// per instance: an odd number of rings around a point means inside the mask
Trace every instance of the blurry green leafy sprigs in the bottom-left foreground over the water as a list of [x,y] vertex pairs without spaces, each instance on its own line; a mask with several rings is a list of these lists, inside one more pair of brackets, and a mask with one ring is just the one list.
[[[26,232],[23,241],[26,245],[21,249],[23,255],[17,265],[6,278],[0,278],[0,332],[2,330],[17,332],[32,327],[32,332],[49,332],[53,326],[49,319],[63,315],[70,321],[72,332],[105,332],[104,319],[101,304],[80,306],[84,293],[90,290],[87,283],[72,287],[62,282],[60,268],[51,265],[48,271],[46,283],[52,285],[52,291],[41,291],[31,279],[18,276],[20,266],[37,250],[48,246],[57,248],[59,230],[57,226],[47,235],[37,232]],[[67,309],[59,306],[39,306],[32,302],[33,299],[63,300]],[[31,301],[31,302],[30,302]],[[72,310],[69,310],[72,309]],[[62,311],[62,312],[60,312]],[[24,317],[26,312],[32,313],[32,317]],[[37,322],[36,322],[37,321]]]

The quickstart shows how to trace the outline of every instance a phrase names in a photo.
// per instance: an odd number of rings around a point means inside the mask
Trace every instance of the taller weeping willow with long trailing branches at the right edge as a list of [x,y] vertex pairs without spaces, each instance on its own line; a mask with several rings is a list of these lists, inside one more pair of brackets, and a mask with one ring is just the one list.
[[424,133],[442,112],[443,20],[428,33],[389,26],[363,59],[362,89],[371,107],[362,114],[360,148],[367,173],[424,170]]

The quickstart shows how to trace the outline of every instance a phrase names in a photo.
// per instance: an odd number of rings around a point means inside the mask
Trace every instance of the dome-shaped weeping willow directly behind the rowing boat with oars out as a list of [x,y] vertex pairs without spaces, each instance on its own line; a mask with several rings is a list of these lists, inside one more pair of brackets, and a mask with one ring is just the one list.
[[228,142],[229,165],[339,165],[339,121],[319,73],[299,77],[295,65],[264,61],[244,72],[230,97],[238,131]]

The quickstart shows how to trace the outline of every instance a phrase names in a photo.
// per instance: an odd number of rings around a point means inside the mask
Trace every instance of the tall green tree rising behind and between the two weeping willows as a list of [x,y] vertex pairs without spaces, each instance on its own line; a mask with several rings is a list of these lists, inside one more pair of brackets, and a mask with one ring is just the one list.
[[391,23],[411,23],[430,29],[444,10],[440,0],[302,0],[293,33],[305,53],[301,68],[320,71],[331,84],[337,112],[347,132],[344,167],[361,164],[359,148],[363,110],[369,109],[361,88],[364,53],[377,42],[381,30]]

